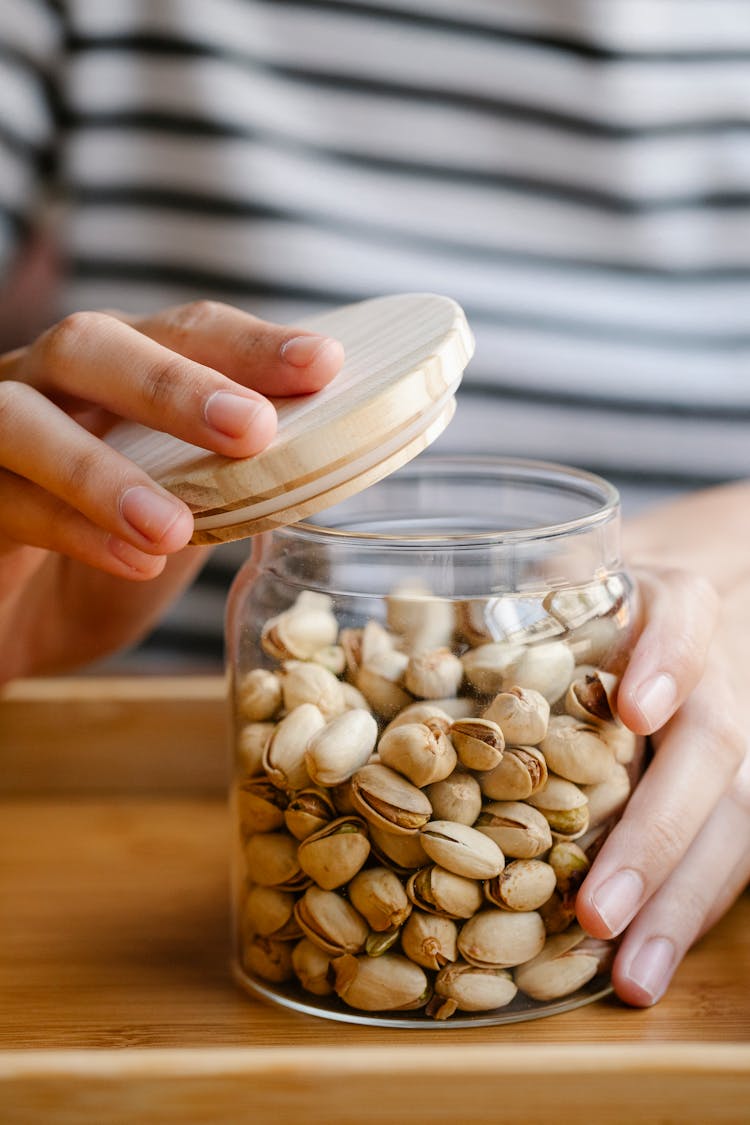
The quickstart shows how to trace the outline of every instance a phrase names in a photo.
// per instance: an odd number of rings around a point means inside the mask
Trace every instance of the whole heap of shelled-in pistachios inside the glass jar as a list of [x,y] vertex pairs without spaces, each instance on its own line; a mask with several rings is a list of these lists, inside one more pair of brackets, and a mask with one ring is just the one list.
[[272,666],[234,685],[246,973],[446,1019],[605,971],[575,900],[638,765],[602,667],[627,628],[615,579],[397,592],[363,628],[305,592],[269,620]]

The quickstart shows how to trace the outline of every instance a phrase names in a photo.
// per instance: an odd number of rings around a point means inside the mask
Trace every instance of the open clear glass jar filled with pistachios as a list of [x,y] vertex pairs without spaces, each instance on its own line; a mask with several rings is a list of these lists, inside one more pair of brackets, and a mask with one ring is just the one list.
[[255,538],[227,608],[235,973],[352,1023],[609,991],[576,892],[641,768],[616,490],[422,457]]

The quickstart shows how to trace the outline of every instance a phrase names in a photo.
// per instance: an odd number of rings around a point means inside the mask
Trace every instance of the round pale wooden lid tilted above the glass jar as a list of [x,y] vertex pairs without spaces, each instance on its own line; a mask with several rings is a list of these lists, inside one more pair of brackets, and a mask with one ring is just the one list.
[[273,398],[277,435],[233,459],[136,423],[108,440],[196,516],[191,542],[217,543],[293,523],[400,468],[437,438],[473,352],[461,308],[405,294],[299,322],[340,340],[345,362],[313,395]]

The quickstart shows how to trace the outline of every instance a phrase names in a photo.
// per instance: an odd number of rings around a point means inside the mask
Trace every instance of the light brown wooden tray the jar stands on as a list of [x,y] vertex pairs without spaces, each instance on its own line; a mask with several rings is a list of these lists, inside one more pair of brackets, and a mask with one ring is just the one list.
[[[748,896],[645,1011],[606,999],[508,1027],[395,1030],[238,991],[222,687],[201,684],[163,688],[161,719],[133,749],[135,791],[109,760],[107,727],[120,742],[124,724],[142,732],[152,688],[142,705],[133,684],[75,682],[21,685],[0,702],[1,1122],[533,1122],[561,1106],[563,1119],[578,1107],[597,1123],[750,1119]],[[99,784],[89,773],[66,786],[58,756],[76,776],[94,740]],[[155,762],[142,791],[160,747],[168,760],[205,753],[187,766],[200,784],[180,791]]]

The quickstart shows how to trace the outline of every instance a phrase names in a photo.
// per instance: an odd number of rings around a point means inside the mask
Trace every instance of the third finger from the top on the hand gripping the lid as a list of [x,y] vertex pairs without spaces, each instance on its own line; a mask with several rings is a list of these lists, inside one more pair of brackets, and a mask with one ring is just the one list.
[[[193,519],[182,501],[33,387],[0,382],[0,450],[16,478],[34,482],[139,551],[166,555],[190,540]],[[13,534],[22,537],[21,504],[13,514]]]

